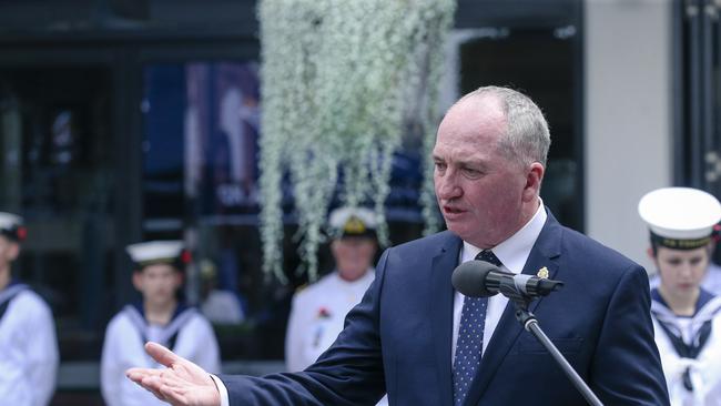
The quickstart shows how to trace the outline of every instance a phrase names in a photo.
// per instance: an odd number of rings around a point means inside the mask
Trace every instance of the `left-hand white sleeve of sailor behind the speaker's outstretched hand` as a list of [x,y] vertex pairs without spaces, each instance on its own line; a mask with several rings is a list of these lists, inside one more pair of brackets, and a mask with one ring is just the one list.
[[105,341],[103,342],[103,353],[100,358],[100,390],[108,406],[121,405],[121,382],[125,378],[125,372],[121,371],[118,356],[122,351],[122,343],[119,342],[119,332],[115,328],[116,319],[108,324],[105,331]]

